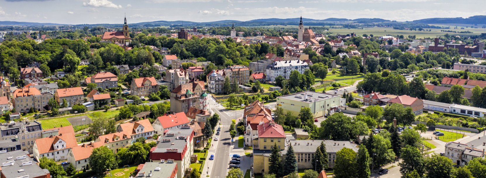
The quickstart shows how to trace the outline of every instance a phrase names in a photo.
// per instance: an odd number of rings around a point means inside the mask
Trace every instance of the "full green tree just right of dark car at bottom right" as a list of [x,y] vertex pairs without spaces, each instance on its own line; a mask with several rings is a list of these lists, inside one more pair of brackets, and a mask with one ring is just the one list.
[[405,175],[408,172],[413,170],[417,171],[419,176],[425,173],[424,170],[424,157],[420,153],[417,147],[413,147],[410,145],[405,146],[401,149],[401,158],[403,161],[399,163],[400,166],[400,173]]

